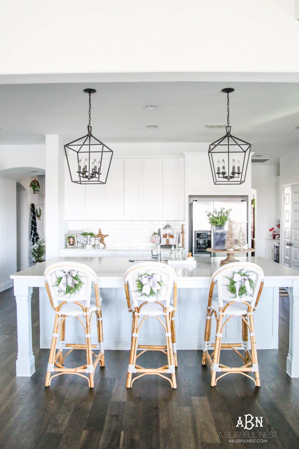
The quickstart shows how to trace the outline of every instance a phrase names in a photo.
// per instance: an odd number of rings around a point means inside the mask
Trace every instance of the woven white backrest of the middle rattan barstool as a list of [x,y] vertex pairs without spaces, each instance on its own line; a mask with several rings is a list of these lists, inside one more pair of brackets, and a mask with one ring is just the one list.
[[[158,282],[160,289],[157,290],[157,294],[153,294],[152,288],[149,290],[151,279],[143,278],[143,282],[148,283],[148,285],[145,285],[144,291],[152,292],[149,296],[146,294],[143,295],[143,284],[140,284],[139,278],[143,276],[151,277],[152,275],[156,275],[154,276],[154,280]],[[140,301],[165,301],[165,307],[169,307],[173,282],[177,281],[177,275],[168,265],[152,261],[152,263],[144,262],[132,265],[126,271],[124,280],[128,284],[131,305],[133,307],[139,307]],[[155,286],[156,284],[152,283],[152,285]]]

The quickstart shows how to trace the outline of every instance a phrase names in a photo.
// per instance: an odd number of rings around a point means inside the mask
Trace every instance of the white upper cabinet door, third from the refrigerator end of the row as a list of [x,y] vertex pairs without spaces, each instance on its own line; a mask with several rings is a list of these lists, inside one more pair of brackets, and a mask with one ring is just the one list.
[[143,160],[124,160],[124,218],[143,217]]

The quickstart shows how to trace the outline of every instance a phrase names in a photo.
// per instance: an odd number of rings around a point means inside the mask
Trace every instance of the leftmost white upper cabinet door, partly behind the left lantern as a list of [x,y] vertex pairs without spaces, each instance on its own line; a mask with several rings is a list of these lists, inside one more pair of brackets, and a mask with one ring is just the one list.
[[[77,158],[69,158],[71,172],[78,169]],[[69,168],[65,158],[65,220],[85,219],[85,185],[70,180]]]

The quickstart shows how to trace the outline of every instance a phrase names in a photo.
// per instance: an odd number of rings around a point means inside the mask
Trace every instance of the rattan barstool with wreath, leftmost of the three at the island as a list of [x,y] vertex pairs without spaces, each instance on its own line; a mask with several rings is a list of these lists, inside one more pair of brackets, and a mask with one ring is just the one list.
[[[89,387],[93,388],[96,365],[99,362],[100,366],[105,365],[101,298],[97,276],[87,265],[78,262],[58,262],[49,265],[45,270],[44,281],[52,309],[55,312],[45,386],[49,387],[51,380],[61,374],[77,374],[87,379]],[[78,282],[80,283],[78,291],[70,292],[67,287],[74,288],[74,285]],[[95,291],[95,298],[91,298],[92,285]],[[97,344],[91,344],[91,320],[94,314],[98,332]],[[82,324],[85,330],[85,344],[65,342],[65,321],[69,317],[77,318]],[[57,340],[59,344],[56,352]],[[66,348],[69,351],[63,355],[63,350]],[[75,368],[66,368],[64,366],[65,357],[74,349],[86,350],[87,363]],[[93,349],[99,349],[100,351],[98,354],[95,354]],[[94,361],[92,360],[92,355],[95,356]],[[87,373],[88,375],[85,376],[82,373]]]

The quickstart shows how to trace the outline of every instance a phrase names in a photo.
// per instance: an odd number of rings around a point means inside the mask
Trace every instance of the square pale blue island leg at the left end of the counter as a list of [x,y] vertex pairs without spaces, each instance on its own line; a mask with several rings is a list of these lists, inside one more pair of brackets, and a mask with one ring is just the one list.
[[27,279],[14,279],[13,292],[17,302],[17,376],[32,376],[35,357],[32,350],[31,295]]

